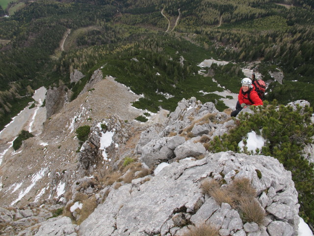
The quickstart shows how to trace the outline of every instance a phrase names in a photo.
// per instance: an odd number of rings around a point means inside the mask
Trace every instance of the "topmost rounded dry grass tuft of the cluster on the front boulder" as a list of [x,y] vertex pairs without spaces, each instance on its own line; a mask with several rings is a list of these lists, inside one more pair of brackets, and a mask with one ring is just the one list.
[[227,191],[238,202],[243,198],[255,198],[257,194],[256,189],[251,185],[251,180],[248,178],[235,178],[228,185]]

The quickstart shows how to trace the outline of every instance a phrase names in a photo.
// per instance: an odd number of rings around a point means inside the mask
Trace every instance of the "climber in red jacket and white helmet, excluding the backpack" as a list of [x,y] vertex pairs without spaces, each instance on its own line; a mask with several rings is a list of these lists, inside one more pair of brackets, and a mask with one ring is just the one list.
[[238,101],[236,102],[235,111],[230,115],[236,117],[236,115],[243,109],[250,105],[259,106],[263,105],[262,99],[259,97],[252,85],[252,80],[244,78],[241,81],[242,87],[239,91]]

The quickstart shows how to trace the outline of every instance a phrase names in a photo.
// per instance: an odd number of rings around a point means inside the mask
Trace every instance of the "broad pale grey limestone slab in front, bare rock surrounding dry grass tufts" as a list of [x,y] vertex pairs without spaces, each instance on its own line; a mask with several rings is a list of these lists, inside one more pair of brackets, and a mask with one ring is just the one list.
[[[261,178],[257,169],[262,173]],[[269,207],[260,205],[268,212],[267,220],[259,226],[244,225],[237,208],[226,203],[219,205],[212,197],[204,195],[201,181],[212,177],[229,184],[236,178],[250,179],[258,192],[256,201],[262,195],[268,198]],[[165,236],[172,232],[179,236],[186,222],[196,225],[203,222],[219,227],[219,233],[225,236],[246,235],[245,232],[264,236],[281,232],[281,235],[292,236],[299,223],[297,192],[291,173],[269,156],[231,151],[207,154],[202,160],[173,162],[150,181],[140,185],[136,181],[136,186],[132,183],[112,190],[105,202],[79,226],[79,235]],[[284,210],[276,210],[273,205],[280,205]]]

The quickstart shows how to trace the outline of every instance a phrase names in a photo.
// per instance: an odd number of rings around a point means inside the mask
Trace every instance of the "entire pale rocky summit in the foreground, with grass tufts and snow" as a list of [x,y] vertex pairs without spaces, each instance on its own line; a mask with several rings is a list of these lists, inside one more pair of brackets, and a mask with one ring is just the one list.
[[297,235],[298,193],[277,159],[204,147],[235,126],[213,103],[183,99],[162,124],[116,115],[91,124],[73,174],[55,176],[66,191],[2,205],[1,235],[185,236],[204,224],[220,236]]

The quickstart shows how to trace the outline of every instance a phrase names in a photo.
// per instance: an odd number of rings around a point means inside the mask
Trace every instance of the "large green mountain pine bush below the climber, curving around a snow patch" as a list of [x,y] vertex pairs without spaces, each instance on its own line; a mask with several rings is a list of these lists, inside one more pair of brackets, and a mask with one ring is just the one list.
[[254,130],[267,140],[261,154],[277,158],[284,167],[291,171],[292,180],[298,191],[299,214],[303,219],[314,224],[314,163],[310,163],[302,154],[307,144],[313,143],[314,127],[311,123],[311,107],[278,106],[274,100],[263,106],[254,107],[255,113],[240,114],[236,127],[221,138],[215,137],[209,143],[213,152],[232,150],[240,152],[238,143],[247,133]]

